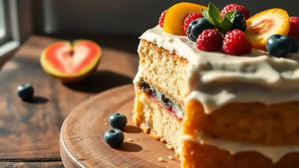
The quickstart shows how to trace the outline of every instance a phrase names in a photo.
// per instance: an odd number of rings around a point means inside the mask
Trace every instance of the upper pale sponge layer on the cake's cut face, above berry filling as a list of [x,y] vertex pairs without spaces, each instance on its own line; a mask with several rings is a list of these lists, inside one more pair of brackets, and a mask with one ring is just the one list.
[[144,40],[141,40],[138,53],[142,79],[184,105],[188,62]]

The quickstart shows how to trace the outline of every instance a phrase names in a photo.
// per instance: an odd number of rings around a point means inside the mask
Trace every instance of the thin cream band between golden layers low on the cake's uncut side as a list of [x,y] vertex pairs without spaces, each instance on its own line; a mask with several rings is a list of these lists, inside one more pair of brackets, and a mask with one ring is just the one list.
[[216,146],[219,149],[227,150],[231,155],[238,152],[245,151],[256,151],[267,158],[272,160],[272,163],[277,163],[284,155],[290,152],[299,152],[299,146],[263,146],[263,145],[252,145],[248,143],[236,143],[229,142],[226,140],[217,140],[213,138],[206,138],[198,136],[193,138],[190,135],[184,135],[182,140],[191,140],[200,143],[201,145],[207,144],[211,146]]

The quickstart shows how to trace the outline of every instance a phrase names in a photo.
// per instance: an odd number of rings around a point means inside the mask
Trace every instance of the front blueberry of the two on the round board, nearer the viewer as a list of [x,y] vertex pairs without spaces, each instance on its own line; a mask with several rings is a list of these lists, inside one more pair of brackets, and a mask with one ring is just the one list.
[[104,140],[110,146],[120,146],[124,139],[125,135],[119,129],[109,129],[104,134]]

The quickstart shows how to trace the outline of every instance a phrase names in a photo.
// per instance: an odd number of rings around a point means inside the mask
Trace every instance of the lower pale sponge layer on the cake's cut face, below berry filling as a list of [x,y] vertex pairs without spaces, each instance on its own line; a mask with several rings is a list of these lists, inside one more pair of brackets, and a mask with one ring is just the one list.
[[172,115],[161,103],[153,100],[147,92],[140,92],[138,103],[143,108],[138,113],[143,118],[140,127],[144,132],[161,142],[166,142],[168,149],[179,152],[181,122]]

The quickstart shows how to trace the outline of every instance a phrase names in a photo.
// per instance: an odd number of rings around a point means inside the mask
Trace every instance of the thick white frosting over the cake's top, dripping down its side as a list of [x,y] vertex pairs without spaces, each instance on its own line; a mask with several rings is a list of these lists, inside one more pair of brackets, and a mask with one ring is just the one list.
[[[299,53],[276,58],[253,50],[245,56],[205,52],[196,48],[187,36],[165,33],[158,25],[140,39],[152,42],[189,61],[187,100],[202,103],[205,113],[231,102],[274,104],[299,100]],[[141,46],[138,47],[138,53]],[[141,75],[141,73],[140,73]],[[135,82],[140,77],[135,77]],[[192,79],[197,78],[195,83]]]

